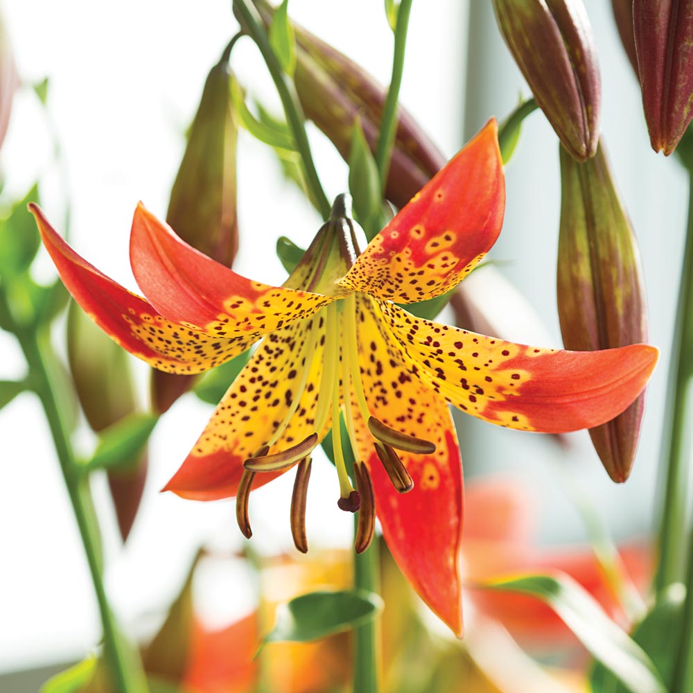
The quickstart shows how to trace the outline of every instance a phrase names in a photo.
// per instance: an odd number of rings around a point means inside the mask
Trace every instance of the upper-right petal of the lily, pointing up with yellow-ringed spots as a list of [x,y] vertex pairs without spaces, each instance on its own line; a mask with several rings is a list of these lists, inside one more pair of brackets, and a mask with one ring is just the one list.
[[443,294],[489,252],[504,211],[498,124],[491,120],[371,240],[339,283],[398,303]]

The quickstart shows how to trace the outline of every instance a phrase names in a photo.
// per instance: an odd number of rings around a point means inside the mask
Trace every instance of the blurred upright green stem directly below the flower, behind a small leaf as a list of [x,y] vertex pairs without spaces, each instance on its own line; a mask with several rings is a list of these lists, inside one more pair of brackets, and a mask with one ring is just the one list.
[[[354,515],[354,532],[358,516]],[[353,586],[380,594],[380,545],[374,537],[371,545],[362,554],[354,554]],[[353,648],[353,693],[377,693],[380,675],[380,619],[374,618],[367,624],[354,629]]]

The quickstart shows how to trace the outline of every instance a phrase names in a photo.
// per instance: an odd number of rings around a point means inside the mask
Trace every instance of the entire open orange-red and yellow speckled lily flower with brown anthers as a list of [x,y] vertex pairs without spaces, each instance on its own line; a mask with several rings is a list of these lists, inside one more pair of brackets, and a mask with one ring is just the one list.
[[[337,198],[281,287],[204,256],[140,204],[130,261],[143,299],[87,263],[38,207],[30,209],[76,301],[150,365],[195,374],[262,338],[164,490],[195,500],[235,495],[250,536],[250,489],[298,464],[291,525],[306,551],[310,455],[331,429],[338,504],[360,507],[356,550],[369,545],[377,513],[401,570],[455,633],[462,631],[462,460],[448,403],[518,430],[593,428],[640,394],[657,358],[644,344],[527,347],[419,319],[398,305],[456,286],[498,238],[505,181],[495,121],[361,254],[356,224]],[[356,489],[342,452],[347,439]]]

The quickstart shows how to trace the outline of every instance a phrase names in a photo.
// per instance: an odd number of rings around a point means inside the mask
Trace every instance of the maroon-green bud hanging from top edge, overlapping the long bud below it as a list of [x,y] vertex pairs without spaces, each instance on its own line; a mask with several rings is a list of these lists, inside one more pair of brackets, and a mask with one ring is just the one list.
[[563,146],[579,161],[599,141],[597,50],[581,0],[493,0],[498,26]]

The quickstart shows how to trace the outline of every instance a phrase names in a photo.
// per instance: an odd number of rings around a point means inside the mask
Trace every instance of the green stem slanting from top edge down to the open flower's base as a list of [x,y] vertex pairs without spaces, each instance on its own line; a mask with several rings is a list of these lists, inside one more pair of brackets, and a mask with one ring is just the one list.
[[306,184],[308,184],[315,200],[317,200],[322,217],[327,219],[330,216],[331,204],[322,189],[322,184],[320,184],[320,179],[313,163],[313,155],[310,153],[310,144],[306,134],[306,119],[299,104],[299,98],[293,82],[281,69],[279,60],[277,60],[277,56],[274,55],[272,46],[270,46],[270,40],[267,38],[262,18],[252,2],[250,0],[234,0],[234,11],[241,26],[247,30],[248,35],[254,40],[258,49],[260,49],[265,64],[267,64],[274,86],[277,87],[281,105],[286,115],[286,121],[291,128],[298,152],[301,155],[301,164],[304,167]]

